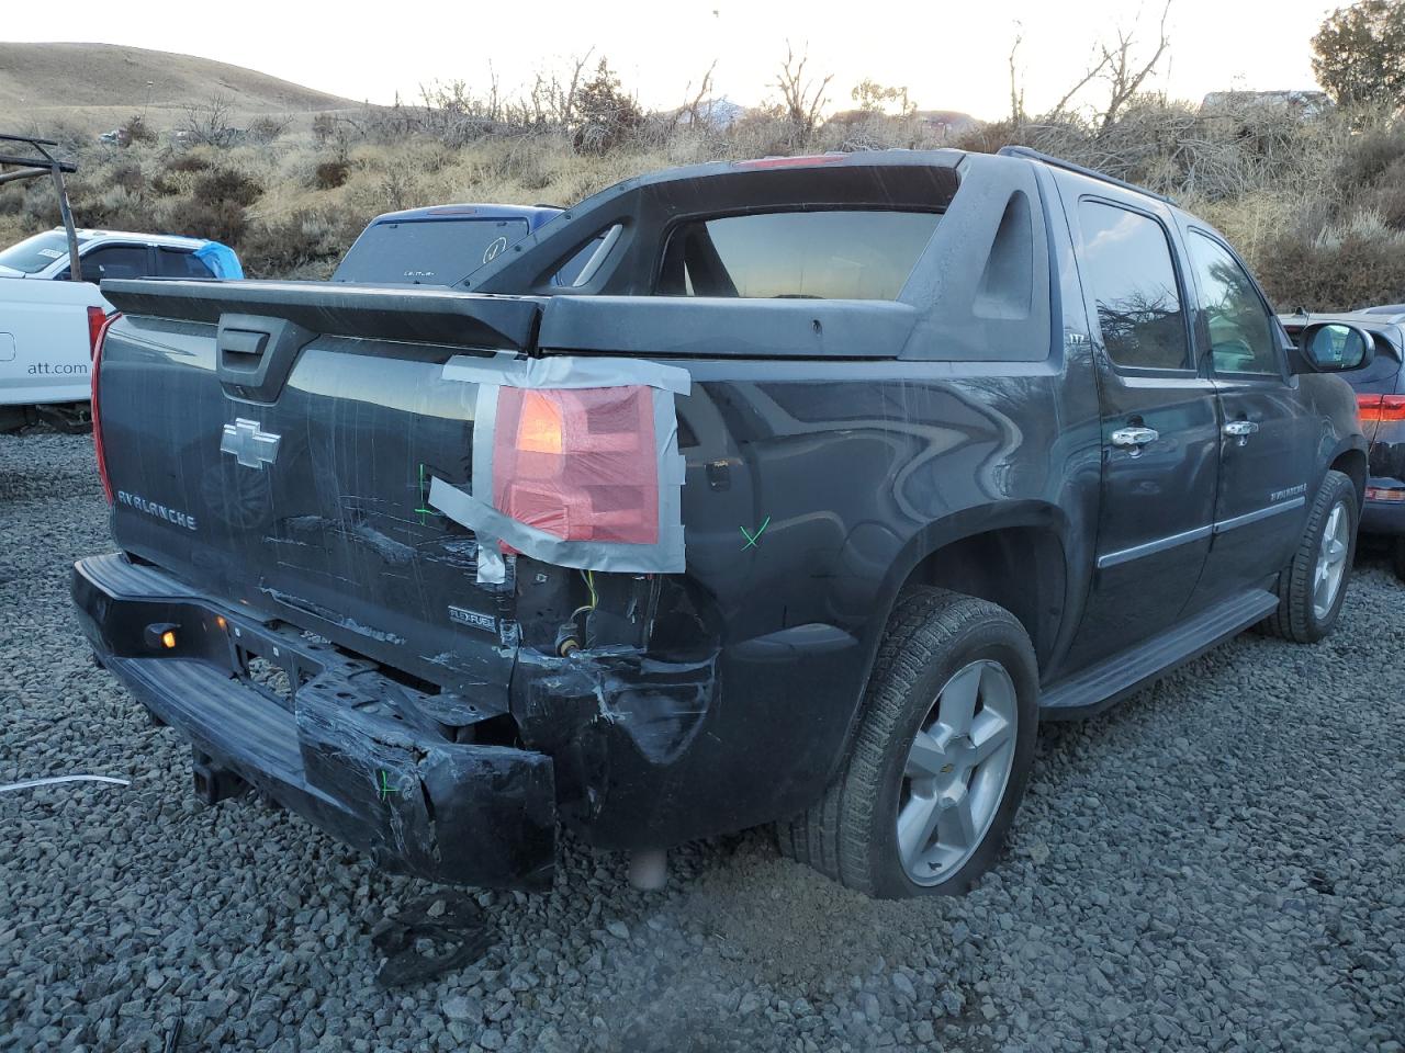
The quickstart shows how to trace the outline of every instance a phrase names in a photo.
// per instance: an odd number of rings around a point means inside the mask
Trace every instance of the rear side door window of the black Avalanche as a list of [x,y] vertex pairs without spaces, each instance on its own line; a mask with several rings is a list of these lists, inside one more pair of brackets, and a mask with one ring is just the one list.
[[1080,201],[1082,275],[1113,365],[1189,371],[1190,340],[1166,230],[1151,216]]

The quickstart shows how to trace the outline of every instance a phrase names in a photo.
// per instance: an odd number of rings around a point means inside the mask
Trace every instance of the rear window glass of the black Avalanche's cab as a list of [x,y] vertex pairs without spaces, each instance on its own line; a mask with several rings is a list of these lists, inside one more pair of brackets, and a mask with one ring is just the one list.
[[658,292],[747,299],[896,299],[932,240],[936,212],[763,212],[684,223]]

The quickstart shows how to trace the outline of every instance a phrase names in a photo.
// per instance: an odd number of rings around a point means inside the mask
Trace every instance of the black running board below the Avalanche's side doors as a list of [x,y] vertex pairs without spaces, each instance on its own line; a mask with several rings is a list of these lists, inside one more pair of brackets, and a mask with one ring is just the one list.
[[1159,633],[1149,643],[1104,658],[1096,665],[1044,688],[1040,717],[1076,720],[1102,713],[1146,684],[1198,658],[1215,644],[1238,636],[1279,607],[1262,588],[1241,592]]

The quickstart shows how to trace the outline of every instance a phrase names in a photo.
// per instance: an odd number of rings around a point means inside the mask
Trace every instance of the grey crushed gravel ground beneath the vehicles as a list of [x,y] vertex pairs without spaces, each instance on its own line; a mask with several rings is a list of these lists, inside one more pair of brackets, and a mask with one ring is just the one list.
[[1335,637],[1242,637],[1045,727],[999,869],[873,903],[763,831],[663,893],[568,845],[485,893],[482,962],[385,993],[371,932],[431,886],[257,803],[96,670],[69,564],[108,548],[91,442],[0,437],[0,1049],[1401,1050],[1405,626],[1378,559]]

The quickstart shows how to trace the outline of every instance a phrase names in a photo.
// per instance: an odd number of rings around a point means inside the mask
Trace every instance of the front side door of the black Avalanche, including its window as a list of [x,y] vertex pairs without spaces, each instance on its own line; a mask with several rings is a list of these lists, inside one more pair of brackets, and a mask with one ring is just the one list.
[[1280,329],[1253,278],[1207,230],[1186,233],[1197,344],[1220,400],[1220,487],[1201,595],[1243,590],[1293,557],[1312,500],[1318,421],[1288,375]]

